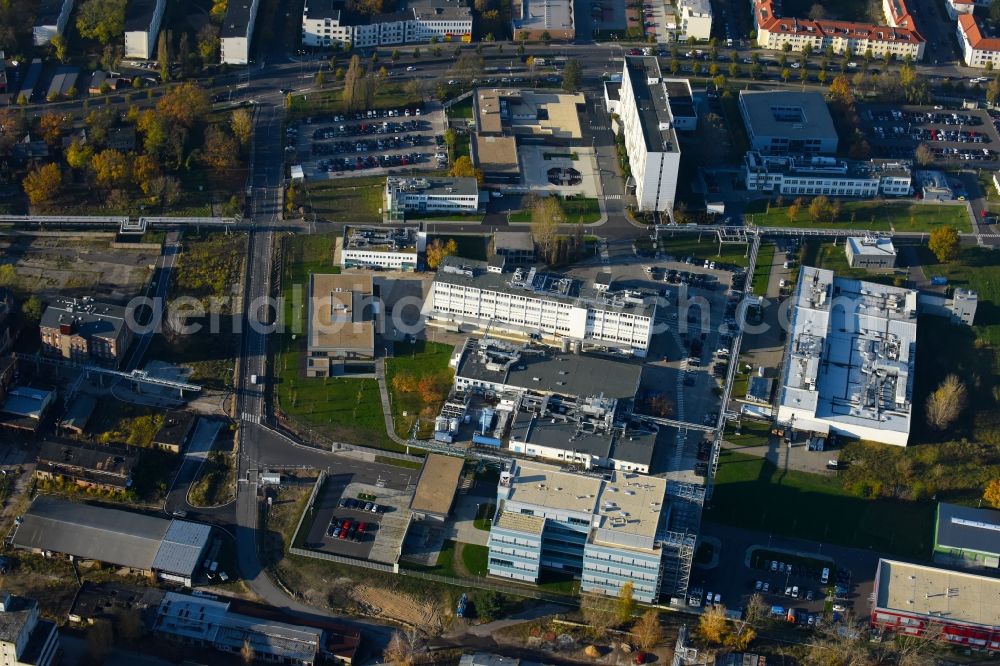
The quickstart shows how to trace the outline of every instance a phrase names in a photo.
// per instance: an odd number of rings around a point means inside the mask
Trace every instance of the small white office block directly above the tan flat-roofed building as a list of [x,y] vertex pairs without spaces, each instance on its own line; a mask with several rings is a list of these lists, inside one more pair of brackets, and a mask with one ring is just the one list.
[[427,234],[416,227],[344,227],[341,268],[415,271]]

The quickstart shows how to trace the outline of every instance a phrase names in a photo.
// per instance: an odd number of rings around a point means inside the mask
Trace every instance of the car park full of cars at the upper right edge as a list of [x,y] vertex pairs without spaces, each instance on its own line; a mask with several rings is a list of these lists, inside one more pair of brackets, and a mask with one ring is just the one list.
[[942,165],[995,166],[1000,135],[985,111],[872,106],[861,122],[877,157],[912,158],[920,144]]

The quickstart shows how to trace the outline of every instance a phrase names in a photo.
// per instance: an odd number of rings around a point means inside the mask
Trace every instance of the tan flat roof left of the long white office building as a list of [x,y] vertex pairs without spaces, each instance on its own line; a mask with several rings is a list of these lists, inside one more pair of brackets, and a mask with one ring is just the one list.
[[309,276],[311,350],[360,349],[373,353],[375,320],[372,276],[368,273],[313,273]]

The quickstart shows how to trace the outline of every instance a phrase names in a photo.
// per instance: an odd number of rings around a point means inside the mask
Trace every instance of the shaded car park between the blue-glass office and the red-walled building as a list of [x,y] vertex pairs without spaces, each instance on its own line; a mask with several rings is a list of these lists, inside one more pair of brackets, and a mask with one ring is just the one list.
[[[873,590],[877,555],[802,539],[705,523],[701,541],[715,548],[711,562],[695,564],[689,602],[741,608],[759,593],[770,608],[786,617],[791,609],[804,627],[826,616],[836,620],[847,612],[863,615]],[[824,582],[824,569],[825,580]],[[827,615],[828,613],[828,615]]]

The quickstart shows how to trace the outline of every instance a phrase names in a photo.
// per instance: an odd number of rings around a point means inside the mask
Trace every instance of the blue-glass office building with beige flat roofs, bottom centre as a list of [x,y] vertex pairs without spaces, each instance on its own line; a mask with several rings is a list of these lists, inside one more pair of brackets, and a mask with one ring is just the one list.
[[545,569],[579,577],[583,592],[609,596],[631,582],[636,600],[655,602],[665,496],[666,480],[657,477],[589,476],[514,461],[497,487],[490,575],[534,583]]

